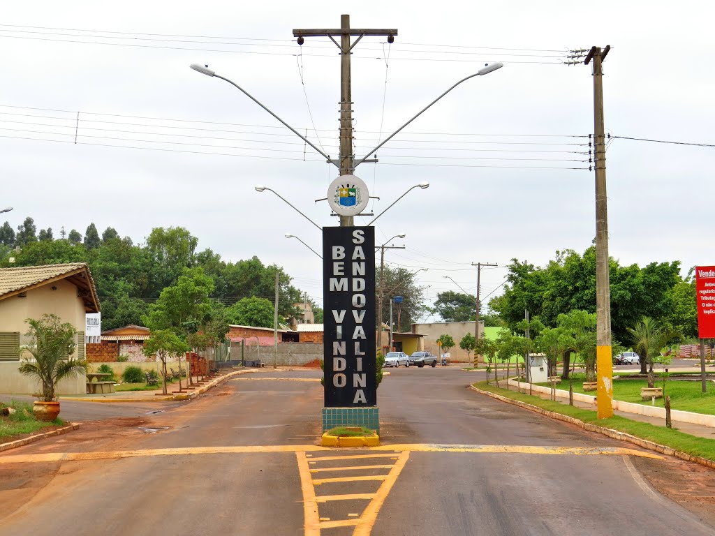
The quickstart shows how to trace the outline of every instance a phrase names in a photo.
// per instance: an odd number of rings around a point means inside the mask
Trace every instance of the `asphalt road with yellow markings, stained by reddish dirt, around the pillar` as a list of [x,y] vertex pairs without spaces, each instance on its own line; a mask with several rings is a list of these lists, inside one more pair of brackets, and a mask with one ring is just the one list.
[[714,472],[613,454],[631,445],[466,389],[482,375],[391,369],[381,450],[317,447],[320,371],[242,375],[152,415],[63,402],[94,420],[0,454],[0,534],[715,534],[650,483],[715,495]]

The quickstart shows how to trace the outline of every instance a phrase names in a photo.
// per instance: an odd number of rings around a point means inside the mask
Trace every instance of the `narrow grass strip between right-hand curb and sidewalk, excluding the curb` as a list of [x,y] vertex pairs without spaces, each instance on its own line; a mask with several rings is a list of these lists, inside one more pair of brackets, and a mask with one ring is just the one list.
[[486,382],[477,382],[473,385],[483,391],[501,394],[503,397],[520,400],[521,402],[526,402],[533,406],[542,407],[544,410],[575,417],[583,422],[590,422],[593,425],[611,428],[611,430],[626,432],[626,434],[631,434],[644,440],[659,443],[659,445],[666,445],[675,450],[686,452],[691,456],[700,456],[715,461],[715,440],[695,437],[679,432],[676,428],[666,428],[651,425],[649,422],[633,421],[626,419],[626,417],[619,417],[618,415],[614,415],[608,419],[598,419],[598,414],[592,410],[582,410],[575,406],[552,402],[551,400],[542,400],[539,397],[530,397],[528,394],[499,389],[494,385],[487,385]]

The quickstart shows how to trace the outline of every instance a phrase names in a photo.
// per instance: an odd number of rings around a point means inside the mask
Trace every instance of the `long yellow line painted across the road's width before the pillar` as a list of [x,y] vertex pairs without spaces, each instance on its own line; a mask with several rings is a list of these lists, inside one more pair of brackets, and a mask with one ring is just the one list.
[[[402,452],[476,452],[498,454],[538,454],[538,455],[616,455],[639,456],[662,460],[661,455],[639,450],[618,447],[529,447],[526,445],[389,445],[385,447],[363,448],[363,452],[381,450],[400,450]],[[118,460],[121,458],[152,457],[152,456],[185,456],[209,454],[253,454],[281,452],[335,452],[330,447],[320,445],[256,445],[250,447],[180,447],[172,449],[147,450],[114,450],[109,452],[48,452],[46,454],[0,455],[0,465],[10,463],[47,463],[47,462],[79,462],[89,460]],[[398,459],[395,452],[384,454],[367,454],[352,456],[313,457],[317,462],[323,460],[360,460],[370,458]],[[312,461],[311,461],[312,462]]]

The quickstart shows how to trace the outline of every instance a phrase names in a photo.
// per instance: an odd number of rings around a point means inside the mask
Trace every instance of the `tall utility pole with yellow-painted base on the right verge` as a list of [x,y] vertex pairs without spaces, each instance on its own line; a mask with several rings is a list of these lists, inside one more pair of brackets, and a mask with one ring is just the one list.
[[603,59],[611,50],[593,46],[584,64],[593,60],[593,155],[596,170],[596,371],[598,418],[613,417],[611,361],[611,290],[608,280],[608,203],[606,197],[606,133],[603,126]]

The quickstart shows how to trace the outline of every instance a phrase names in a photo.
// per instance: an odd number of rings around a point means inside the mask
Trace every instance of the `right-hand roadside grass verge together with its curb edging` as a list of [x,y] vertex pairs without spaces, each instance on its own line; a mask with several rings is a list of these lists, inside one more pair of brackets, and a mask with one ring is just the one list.
[[638,422],[618,415],[608,419],[598,419],[597,413],[592,410],[501,389],[488,385],[486,382],[472,384],[469,388],[485,396],[522,407],[551,419],[568,422],[589,432],[597,432],[644,449],[715,469],[715,440],[695,437],[679,432],[679,430]]

